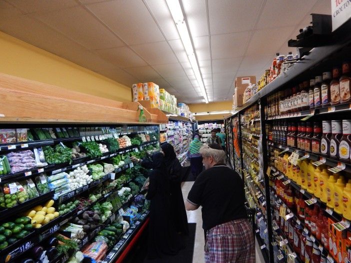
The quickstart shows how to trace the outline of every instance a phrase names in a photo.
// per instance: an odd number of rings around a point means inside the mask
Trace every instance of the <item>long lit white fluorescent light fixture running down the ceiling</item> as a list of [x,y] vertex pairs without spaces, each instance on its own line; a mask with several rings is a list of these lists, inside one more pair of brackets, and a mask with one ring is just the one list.
[[181,10],[180,2],[179,0],[166,0],[169,11],[173,17],[173,20],[175,22],[176,28],[178,30],[181,42],[183,43],[183,46],[185,48],[185,52],[189,58],[192,70],[194,71],[196,80],[198,85],[200,86],[202,96],[205,100],[205,103],[208,103],[208,98],[206,94],[206,90],[203,85],[203,80],[201,77],[200,70],[198,68],[198,63],[197,59],[194,53],[194,49],[192,46],[192,42],[190,39],[190,34],[189,31],[187,30],[186,22],[184,19],[183,12]]

